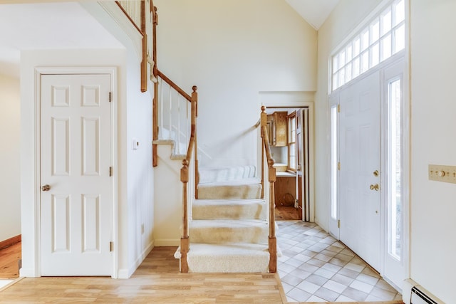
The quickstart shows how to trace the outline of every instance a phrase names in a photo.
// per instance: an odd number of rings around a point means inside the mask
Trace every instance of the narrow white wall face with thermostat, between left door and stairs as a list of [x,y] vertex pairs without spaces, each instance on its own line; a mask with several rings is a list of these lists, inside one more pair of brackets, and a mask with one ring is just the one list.
[[[140,92],[140,62],[135,54],[129,54],[127,91],[124,102],[127,107],[126,142],[120,149],[127,153],[127,214],[128,214],[128,276],[140,266],[152,250],[154,240],[154,193],[152,168],[152,97],[150,92]],[[133,150],[133,139],[138,150]],[[125,277],[125,275],[123,276]]]

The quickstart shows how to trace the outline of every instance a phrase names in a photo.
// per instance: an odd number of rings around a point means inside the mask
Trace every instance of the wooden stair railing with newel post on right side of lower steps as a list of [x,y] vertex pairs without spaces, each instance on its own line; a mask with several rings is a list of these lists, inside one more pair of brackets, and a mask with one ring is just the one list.
[[[257,124],[258,125],[258,124]],[[261,184],[264,187],[264,178],[266,177],[266,168],[267,168],[267,177],[269,182],[269,272],[277,272],[277,239],[276,239],[276,221],[275,221],[275,195],[274,195],[274,183],[276,182],[276,168],[274,167],[274,159],[271,157],[271,147],[269,147],[269,135],[267,127],[267,114],[266,107],[261,106]],[[266,159],[264,159],[264,157]],[[267,166],[265,166],[265,162]]]

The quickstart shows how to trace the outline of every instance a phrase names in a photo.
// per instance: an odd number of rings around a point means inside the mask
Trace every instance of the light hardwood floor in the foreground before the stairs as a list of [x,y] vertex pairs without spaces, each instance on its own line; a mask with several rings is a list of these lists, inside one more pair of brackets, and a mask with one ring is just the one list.
[[[0,303],[286,303],[277,274],[179,273],[175,249],[154,248],[128,280],[22,278],[0,291]],[[392,303],[401,302],[377,304]]]

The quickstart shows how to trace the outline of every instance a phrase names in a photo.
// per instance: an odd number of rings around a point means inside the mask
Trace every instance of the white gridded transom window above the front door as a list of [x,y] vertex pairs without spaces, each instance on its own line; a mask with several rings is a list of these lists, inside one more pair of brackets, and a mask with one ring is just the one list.
[[[385,16],[390,15],[385,20]],[[384,26],[383,22],[390,21],[389,26]],[[395,23],[395,24],[393,24]],[[388,29],[386,31],[386,29]],[[378,31],[378,35],[373,35],[373,29]],[[396,35],[400,34],[400,40]],[[390,51],[386,54],[383,44],[386,39],[390,39]],[[398,43],[399,42],[399,43]],[[359,52],[357,50],[359,43]],[[378,59],[373,58],[372,51],[378,47]],[[386,9],[380,12],[378,16],[368,23],[359,33],[357,33],[350,42],[346,43],[338,53],[332,58],[332,90],[340,88],[359,75],[366,73],[371,68],[393,56],[395,53],[405,48],[405,1],[393,1]],[[347,51],[351,51],[348,54]],[[377,55],[375,53],[375,55]],[[386,56],[385,56],[386,55]],[[388,56],[389,55],[389,56]],[[350,59],[349,59],[350,58]],[[358,75],[353,74],[353,61],[359,58],[360,68]],[[366,62],[367,61],[367,62]],[[336,64],[335,64],[336,63]],[[348,68],[351,65],[351,68]],[[351,75],[346,75],[347,71]],[[356,70],[355,70],[356,73]]]

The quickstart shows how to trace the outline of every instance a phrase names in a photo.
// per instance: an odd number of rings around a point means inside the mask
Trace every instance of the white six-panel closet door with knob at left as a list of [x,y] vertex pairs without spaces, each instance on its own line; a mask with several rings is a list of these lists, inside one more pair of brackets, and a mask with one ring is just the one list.
[[113,269],[110,75],[41,75],[41,275]]

